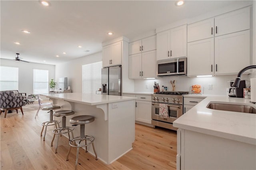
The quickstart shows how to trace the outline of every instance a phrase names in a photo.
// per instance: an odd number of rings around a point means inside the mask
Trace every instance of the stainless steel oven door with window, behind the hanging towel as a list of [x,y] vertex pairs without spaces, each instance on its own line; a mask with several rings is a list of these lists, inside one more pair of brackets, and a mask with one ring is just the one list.
[[[152,102],[152,119],[156,121],[172,123],[178,117],[182,115],[182,105],[168,104],[168,115],[169,118],[162,118],[159,115],[159,104]],[[165,104],[165,103],[162,103]]]

